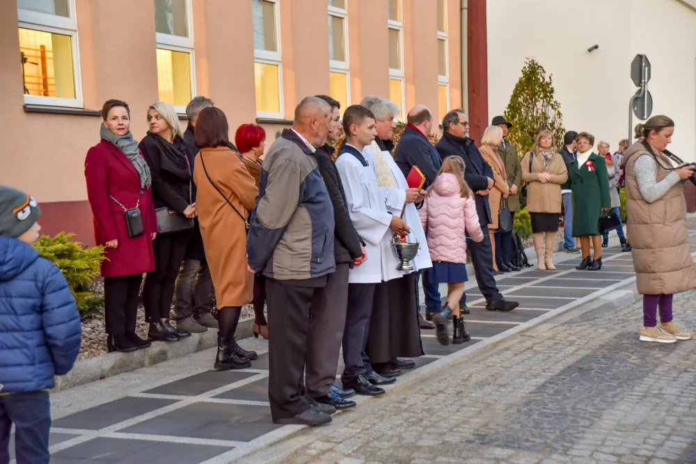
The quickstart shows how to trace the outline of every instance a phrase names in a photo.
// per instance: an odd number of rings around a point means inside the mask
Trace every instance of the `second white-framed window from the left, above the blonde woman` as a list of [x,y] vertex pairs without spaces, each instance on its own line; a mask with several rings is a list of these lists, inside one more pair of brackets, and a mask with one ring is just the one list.
[[159,100],[184,113],[196,93],[191,0],[155,0]]

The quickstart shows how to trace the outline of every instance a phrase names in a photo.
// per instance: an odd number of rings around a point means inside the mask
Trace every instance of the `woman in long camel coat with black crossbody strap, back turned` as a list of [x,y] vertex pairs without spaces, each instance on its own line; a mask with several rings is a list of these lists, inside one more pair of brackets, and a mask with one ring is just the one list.
[[258,359],[235,342],[242,305],[252,298],[253,273],[246,259],[246,225],[256,204],[258,188],[244,159],[228,145],[225,113],[210,106],[196,122],[193,181],[198,187],[196,206],[205,257],[219,309],[218,353],[215,369],[242,369]]

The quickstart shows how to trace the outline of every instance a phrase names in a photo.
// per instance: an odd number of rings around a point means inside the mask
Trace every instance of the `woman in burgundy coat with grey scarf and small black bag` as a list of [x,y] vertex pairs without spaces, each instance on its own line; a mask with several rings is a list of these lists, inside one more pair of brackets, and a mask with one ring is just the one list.
[[[135,333],[143,273],[155,269],[152,240],[157,234],[150,169],[130,133],[130,109],[109,100],[102,108],[102,141],[85,159],[87,197],[97,245],[106,246],[102,262],[104,313],[109,351],[150,346]],[[129,237],[123,211],[140,209],[143,233]]]

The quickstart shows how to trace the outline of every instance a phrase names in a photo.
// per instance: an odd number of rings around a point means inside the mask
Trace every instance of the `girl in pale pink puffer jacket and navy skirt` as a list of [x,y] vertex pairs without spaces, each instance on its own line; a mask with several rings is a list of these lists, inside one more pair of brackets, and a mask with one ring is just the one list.
[[452,317],[452,344],[468,342],[466,323],[459,316],[459,300],[464,295],[466,275],[466,232],[473,241],[482,241],[483,232],[476,213],[473,192],[464,181],[464,161],[447,157],[420,209],[420,221],[427,232],[432,258],[432,281],[446,283],[447,304],[433,314],[438,342],[450,343],[447,325]]

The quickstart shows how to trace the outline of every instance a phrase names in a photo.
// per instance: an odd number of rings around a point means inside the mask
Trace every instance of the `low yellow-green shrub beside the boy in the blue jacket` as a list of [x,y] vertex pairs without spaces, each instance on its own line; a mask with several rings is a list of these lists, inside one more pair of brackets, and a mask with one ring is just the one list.
[[43,235],[35,244],[42,257],[61,269],[70,291],[77,302],[82,316],[101,312],[104,297],[93,294],[93,283],[99,275],[104,256],[104,246],[85,247],[79,241],[72,241],[74,234],[61,232],[55,237]]

